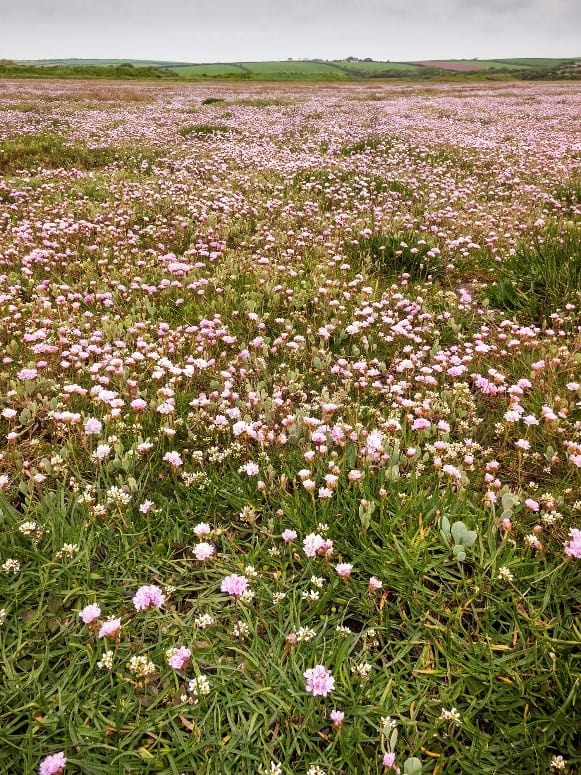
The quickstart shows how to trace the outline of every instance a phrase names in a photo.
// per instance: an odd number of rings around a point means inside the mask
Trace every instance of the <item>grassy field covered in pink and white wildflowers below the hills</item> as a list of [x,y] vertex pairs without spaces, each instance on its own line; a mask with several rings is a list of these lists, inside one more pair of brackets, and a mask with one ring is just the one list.
[[0,771],[578,771],[580,98],[0,82]]

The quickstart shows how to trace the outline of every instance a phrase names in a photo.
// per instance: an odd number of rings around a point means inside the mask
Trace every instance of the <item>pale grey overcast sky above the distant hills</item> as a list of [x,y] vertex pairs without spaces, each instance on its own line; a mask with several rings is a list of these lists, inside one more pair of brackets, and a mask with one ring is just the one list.
[[0,58],[581,56],[581,0],[0,0]]

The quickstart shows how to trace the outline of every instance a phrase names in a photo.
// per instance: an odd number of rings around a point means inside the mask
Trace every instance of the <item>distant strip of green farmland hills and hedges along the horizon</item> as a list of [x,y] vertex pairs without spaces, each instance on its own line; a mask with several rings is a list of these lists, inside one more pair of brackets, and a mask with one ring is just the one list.
[[416,62],[371,58],[271,62],[164,62],[122,59],[0,60],[0,76],[56,78],[184,79],[264,81],[412,79],[569,79],[581,77],[579,58],[439,59]]

